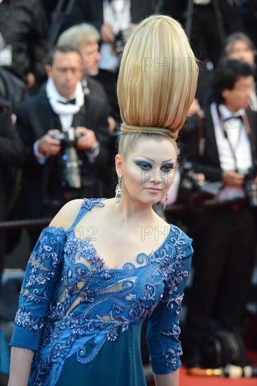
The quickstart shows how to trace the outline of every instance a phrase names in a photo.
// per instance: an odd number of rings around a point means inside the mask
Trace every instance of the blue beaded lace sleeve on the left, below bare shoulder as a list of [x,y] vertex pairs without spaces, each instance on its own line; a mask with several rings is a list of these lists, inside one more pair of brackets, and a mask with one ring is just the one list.
[[46,317],[62,270],[65,232],[46,227],[32,251],[20,291],[11,345],[37,350]]

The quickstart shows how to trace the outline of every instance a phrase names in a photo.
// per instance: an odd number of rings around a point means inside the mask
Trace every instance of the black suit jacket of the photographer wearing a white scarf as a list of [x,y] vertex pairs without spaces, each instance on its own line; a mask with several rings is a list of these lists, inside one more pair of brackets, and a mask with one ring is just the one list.
[[[74,115],[72,125],[85,126],[95,131],[99,142],[99,155],[95,163],[90,164],[87,152],[78,152],[83,161],[83,169],[89,175],[101,177],[109,166],[109,131],[107,121],[108,107],[106,103],[95,95],[85,95],[85,104],[80,112]],[[46,197],[47,186],[53,182],[57,186],[57,157],[49,157],[45,164],[41,165],[34,156],[33,145],[36,140],[45,135],[50,129],[58,128],[62,131],[60,119],[53,112],[46,93],[40,93],[34,98],[29,98],[18,105],[17,127],[20,137],[25,145],[25,167],[22,187],[23,218],[38,218],[42,215],[43,199]],[[46,182],[46,175],[50,181]]]

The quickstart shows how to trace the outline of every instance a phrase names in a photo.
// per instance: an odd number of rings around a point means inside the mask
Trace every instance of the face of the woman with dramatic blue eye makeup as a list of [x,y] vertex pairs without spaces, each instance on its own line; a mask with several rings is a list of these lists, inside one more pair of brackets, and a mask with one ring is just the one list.
[[156,204],[168,192],[174,178],[176,147],[170,140],[141,139],[125,159],[116,156],[123,197]]

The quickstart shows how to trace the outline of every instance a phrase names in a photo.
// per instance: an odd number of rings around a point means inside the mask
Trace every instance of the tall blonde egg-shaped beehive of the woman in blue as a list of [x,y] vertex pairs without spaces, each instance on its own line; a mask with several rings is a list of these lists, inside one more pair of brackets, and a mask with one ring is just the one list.
[[164,128],[176,139],[195,97],[197,75],[197,60],[179,22],[165,15],[143,20],[120,64],[121,135]]

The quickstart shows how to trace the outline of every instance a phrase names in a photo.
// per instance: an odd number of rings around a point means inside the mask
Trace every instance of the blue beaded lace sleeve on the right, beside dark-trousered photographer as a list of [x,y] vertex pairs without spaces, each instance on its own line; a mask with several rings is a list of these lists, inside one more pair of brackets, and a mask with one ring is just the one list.
[[191,239],[186,234],[183,234],[183,241],[179,241],[179,246],[177,244],[175,244],[176,255],[170,257],[172,264],[165,280],[162,299],[148,318],[146,338],[151,366],[155,374],[171,373],[181,366],[179,313],[183,291],[190,272],[193,248]]

